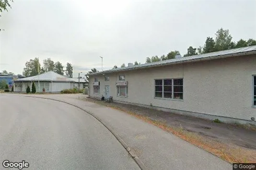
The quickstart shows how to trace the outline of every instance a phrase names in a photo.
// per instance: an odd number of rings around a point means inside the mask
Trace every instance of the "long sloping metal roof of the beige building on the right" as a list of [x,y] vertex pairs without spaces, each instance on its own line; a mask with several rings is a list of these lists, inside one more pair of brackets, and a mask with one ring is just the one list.
[[243,47],[243,48],[236,48],[232,50],[225,50],[225,51],[219,51],[219,52],[213,52],[213,53],[204,53],[199,55],[174,58],[174,59],[164,60],[164,61],[154,62],[154,63],[146,63],[146,64],[133,65],[129,67],[116,68],[116,69],[105,70],[102,72],[92,73],[88,75],[107,74],[107,73],[121,72],[121,71],[127,71],[127,70],[143,69],[143,68],[157,67],[157,66],[170,65],[170,64],[181,64],[181,63],[212,60],[212,59],[225,58],[225,57],[250,55],[250,54],[256,54],[256,45]]

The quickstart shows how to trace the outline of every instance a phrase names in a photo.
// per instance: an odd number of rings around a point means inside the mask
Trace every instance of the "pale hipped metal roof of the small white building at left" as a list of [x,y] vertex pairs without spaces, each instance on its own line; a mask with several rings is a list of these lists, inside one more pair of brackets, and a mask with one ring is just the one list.
[[32,77],[21,78],[21,79],[15,80],[14,82],[38,81],[38,78],[39,78],[39,81],[75,82],[74,80],[72,80],[72,79],[70,79],[66,76],[57,74],[53,71],[43,73],[43,74],[39,74],[39,76],[35,75],[35,76],[32,76]]

